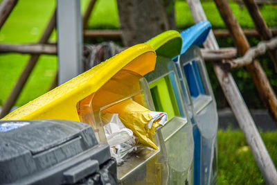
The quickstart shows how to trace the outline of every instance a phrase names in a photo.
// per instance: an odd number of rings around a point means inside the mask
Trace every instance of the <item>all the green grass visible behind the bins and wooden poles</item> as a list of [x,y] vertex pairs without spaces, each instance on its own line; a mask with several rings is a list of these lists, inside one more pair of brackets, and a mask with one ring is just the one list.
[[[82,0],[82,9],[84,9],[87,2]],[[213,27],[224,28],[214,3],[204,3],[203,6]],[[14,44],[37,42],[53,13],[54,7],[54,0],[19,1],[12,15],[10,15],[6,24],[0,30],[0,42]],[[232,3],[231,7],[242,27],[253,28],[253,22],[245,8],[240,9],[235,3]],[[177,26],[179,28],[187,28],[193,25],[193,19],[186,2],[178,1],[175,8]],[[276,7],[264,6],[261,8],[261,12],[269,26],[277,25]],[[98,0],[96,9],[93,11],[89,21],[89,27],[118,28],[116,1]],[[51,41],[55,41],[55,34],[52,35]],[[0,105],[3,105],[3,101],[10,94],[28,58],[28,55],[20,54],[0,55]],[[51,84],[56,71],[57,58],[42,55],[16,105],[24,105],[28,101],[44,94]],[[277,164],[277,132],[262,134],[262,138],[269,150],[269,154],[273,157],[275,164]],[[226,132],[218,132],[218,184],[265,184],[240,131],[227,130]]]

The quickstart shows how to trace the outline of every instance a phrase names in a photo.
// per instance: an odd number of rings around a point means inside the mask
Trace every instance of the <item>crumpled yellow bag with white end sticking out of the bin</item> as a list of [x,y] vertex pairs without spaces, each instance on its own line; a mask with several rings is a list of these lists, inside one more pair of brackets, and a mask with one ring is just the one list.
[[131,99],[117,103],[102,112],[118,114],[125,127],[132,130],[134,135],[139,138],[139,143],[159,150],[154,143],[153,136],[156,134],[156,130],[168,121],[166,113],[151,112]]

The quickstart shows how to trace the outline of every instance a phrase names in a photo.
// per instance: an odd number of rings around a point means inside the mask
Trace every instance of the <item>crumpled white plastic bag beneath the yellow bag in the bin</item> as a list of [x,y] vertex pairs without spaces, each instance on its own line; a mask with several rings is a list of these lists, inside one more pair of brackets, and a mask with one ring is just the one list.
[[111,157],[116,158],[117,164],[120,164],[125,155],[136,150],[136,138],[132,130],[123,125],[118,114],[104,114],[101,118],[105,124],[104,130]]

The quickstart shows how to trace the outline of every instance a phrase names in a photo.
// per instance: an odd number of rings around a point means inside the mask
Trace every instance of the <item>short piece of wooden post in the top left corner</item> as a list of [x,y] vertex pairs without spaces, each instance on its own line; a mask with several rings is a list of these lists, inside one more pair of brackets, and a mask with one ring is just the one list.
[[0,28],[3,26],[5,21],[8,19],[10,12],[17,5],[17,0],[3,0],[0,4]]

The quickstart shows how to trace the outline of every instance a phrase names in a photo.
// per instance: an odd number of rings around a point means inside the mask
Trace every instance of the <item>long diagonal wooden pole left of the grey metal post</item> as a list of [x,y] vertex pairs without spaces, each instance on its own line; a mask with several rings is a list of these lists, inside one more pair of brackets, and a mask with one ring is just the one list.
[[[42,37],[39,39],[39,42],[38,42],[39,44],[45,44],[48,41],[51,33],[55,28],[55,23],[56,23],[56,16],[54,12],[51,17],[51,20],[49,21],[46,29],[44,30],[44,33],[42,34]],[[26,64],[26,67],[24,68],[23,72],[19,76],[15,87],[12,89],[12,92],[10,93],[8,100],[6,100],[6,103],[3,105],[3,109],[0,113],[0,118],[3,118],[3,116],[6,116],[10,112],[10,109],[12,108],[12,106],[15,105],[15,101],[17,100],[21,90],[23,89],[26,81],[28,80],[28,77],[30,76],[30,73],[35,67],[35,64],[37,64],[38,59],[39,59],[39,55],[31,55],[30,59],[28,60],[28,63]]]

